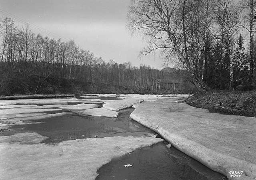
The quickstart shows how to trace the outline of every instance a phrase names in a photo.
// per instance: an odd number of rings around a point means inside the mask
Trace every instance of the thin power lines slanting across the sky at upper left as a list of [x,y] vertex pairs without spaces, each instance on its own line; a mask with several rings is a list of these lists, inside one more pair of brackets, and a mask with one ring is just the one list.
[[61,39],[64,39],[66,41],[68,41],[68,39],[66,38],[63,38],[61,36],[59,36],[58,34],[55,34],[53,32],[50,32],[44,28],[41,28],[40,26],[37,26],[35,24],[32,24],[32,23],[28,23],[26,20],[22,19],[22,18],[19,18],[18,16],[15,16],[14,14],[11,14],[9,12],[6,12],[5,10],[2,10],[0,8],[0,13],[4,14],[5,16],[10,16],[12,17],[14,20],[18,21],[18,22],[21,22],[23,24],[28,24],[29,26],[31,26],[32,28],[36,29],[36,30],[39,30],[40,32],[43,32],[45,34],[47,34],[48,36],[53,36],[54,38],[61,38]]

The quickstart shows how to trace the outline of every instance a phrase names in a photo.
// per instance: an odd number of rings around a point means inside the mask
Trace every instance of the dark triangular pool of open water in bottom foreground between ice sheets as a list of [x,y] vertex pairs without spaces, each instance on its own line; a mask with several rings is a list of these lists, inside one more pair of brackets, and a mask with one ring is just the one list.
[[[125,164],[132,164],[126,168]],[[225,180],[225,176],[214,172],[171,147],[160,142],[153,146],[134,150],[120,158],[114,158],[98,171],[96,180]]]

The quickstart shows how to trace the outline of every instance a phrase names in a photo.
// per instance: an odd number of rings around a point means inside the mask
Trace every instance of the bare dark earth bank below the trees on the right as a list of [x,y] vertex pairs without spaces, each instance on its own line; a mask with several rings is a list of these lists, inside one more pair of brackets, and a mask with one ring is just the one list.
[[210,112],[256,117],[256,91],[218,91],[196,93],[186,103]]

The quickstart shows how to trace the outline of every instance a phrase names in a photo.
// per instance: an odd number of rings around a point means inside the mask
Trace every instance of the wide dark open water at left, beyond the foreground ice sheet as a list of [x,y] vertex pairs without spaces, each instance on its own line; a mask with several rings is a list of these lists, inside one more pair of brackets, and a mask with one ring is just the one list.
[[[109,136],[144,136],[154,133],[150,129],[132,121],[129,115],[133,109],[122,110],[116,119],[107,117],[80,116],[76,114],[52,117],[37,120],[40,124],[18,125],[11,127],[10,132],[1,136],[14,133],[36,132],[47,136],[45,143],[58,143],[63,140],[79,138],[109,137]],[[82,137],[84,135],[84,137]]]

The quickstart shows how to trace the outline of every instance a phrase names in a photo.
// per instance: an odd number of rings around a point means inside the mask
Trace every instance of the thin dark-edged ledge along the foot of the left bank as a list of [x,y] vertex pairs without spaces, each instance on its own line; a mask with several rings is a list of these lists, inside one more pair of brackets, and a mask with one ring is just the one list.
[[13,99],[42,99],[42,98],[57,98],[57,97],[74,97],[75,94],[35,94],[35,95],[10,95],[0,96],[0,100]]

